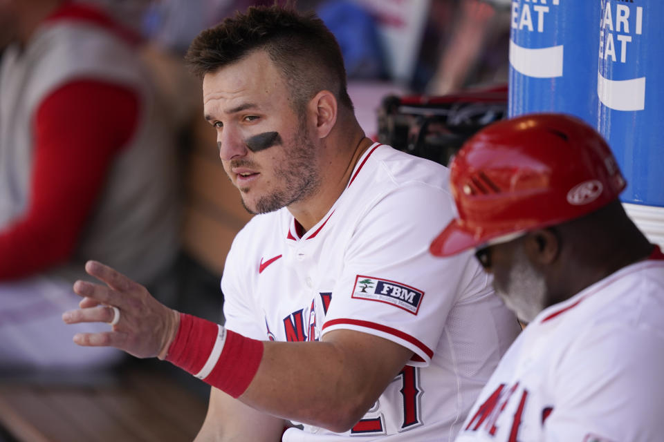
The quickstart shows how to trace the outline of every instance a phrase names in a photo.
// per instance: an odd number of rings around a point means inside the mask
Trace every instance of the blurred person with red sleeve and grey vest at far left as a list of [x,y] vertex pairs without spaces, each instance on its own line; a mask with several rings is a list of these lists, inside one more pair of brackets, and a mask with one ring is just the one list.
[[82,263],[147,285],[172,264],[173,128],[139,44],[93,6],[0,0],[0,369],[118,362],[72,345],[62,324]]

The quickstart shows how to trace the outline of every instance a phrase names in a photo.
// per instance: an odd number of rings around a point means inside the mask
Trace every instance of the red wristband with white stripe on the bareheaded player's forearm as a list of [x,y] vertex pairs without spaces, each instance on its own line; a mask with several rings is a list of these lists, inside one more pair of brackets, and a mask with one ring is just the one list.
[[237,398],[247,390],[263,357],[263,343],[215,323],[180,314],[166,361]]

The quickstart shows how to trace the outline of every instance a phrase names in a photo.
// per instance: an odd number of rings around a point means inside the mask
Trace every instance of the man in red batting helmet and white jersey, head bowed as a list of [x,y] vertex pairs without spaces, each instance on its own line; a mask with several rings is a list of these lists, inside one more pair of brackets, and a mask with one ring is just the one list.
[[661,441],[664,255],[627,218],[602,137],[580,119],[488,126],[451,166],[459,218],[438,256],[475,249],[528,326],[457,441]]

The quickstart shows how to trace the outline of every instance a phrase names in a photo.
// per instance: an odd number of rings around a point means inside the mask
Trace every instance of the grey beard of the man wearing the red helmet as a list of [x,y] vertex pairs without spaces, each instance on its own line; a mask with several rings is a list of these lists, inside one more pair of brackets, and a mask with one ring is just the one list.
[[530,323],[546,307],[546,282],[533,268],[523,249],[517,248],[508,275],[506,292],[497,289],[508,309],[525,323]]

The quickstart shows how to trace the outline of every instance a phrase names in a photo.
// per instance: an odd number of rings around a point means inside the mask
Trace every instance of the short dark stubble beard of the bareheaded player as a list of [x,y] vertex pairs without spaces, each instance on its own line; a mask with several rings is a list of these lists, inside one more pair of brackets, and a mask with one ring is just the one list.
[[284,187],[259,198],[255,209],[250,209],[243,199],[242,205],[249,213],[277,211],[313,195],[320,188],[320,172],[315,166],[315,146],[306,135],[303,125],[297,131],[291,147],[286,149],[286,155],[287,161],[275,169],[275,177]]

